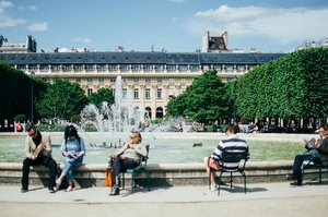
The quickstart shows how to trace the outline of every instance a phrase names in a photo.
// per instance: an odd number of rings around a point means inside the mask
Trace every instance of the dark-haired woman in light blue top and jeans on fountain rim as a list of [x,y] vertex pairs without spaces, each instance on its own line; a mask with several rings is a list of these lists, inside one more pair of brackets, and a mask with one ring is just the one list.
[[62,179],[66,177],[69,183],[67,192],[73,190],[73,168],[82,165],[85,155],[85,144],[82,137],[79,136],[74,125],[68,125],[65,130],[65,137],[61,144],[61,153],[65,157],[63,169],[60,177],[56,180],[56,190],[59,189]]

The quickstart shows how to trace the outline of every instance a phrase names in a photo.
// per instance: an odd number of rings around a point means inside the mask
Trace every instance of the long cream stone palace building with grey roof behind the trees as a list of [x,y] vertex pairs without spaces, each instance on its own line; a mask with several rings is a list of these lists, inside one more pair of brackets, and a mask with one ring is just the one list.
[[[115,91],[116,77],[121,76],[124,97],[131,94],[134,105],[145,108],[151,119],[156,119],[165,116],[169,99],[181,94],[204,71],[216,70],[222,81],[229,82],[284,55],[230,51],[225,34],[210,37],[207,33],[202,51],[197,52],[36,52],[33,49],[22,52],[22,44],[17,44],[20,51],[14,46],[7,51],[1,45],[9,43],[0,40],[0,61],[38,79],[51,81],[59,76],[77,82],[86,95],[103,87]],[[26,39],[27,43],[32,46],[25,47],[36,49],[34,39]]]

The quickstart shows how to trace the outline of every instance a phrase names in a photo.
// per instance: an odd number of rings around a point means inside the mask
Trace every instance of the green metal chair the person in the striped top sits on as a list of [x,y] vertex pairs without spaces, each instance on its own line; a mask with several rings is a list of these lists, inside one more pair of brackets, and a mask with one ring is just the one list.
[[245,166],[246,161],[249,159],[248,150],[245,152],[233,152],[233,150],[223,150],[222,157],[220,160],[220,170],[215,170],[213,168],[210,168],[210,174],[209,174],[209,184],[211,184],[210,176],[211,172],[220,172],[219,173],[219,188],[218,188],[218,195],[220,195],[220,189],[221,189],[221,179],[222,174],[224,172],[230,172],[230,188],[233,188],[233,172],[239,172],[244,178],[244,191],[246,194],[246,180],[247,176],[245,173]]

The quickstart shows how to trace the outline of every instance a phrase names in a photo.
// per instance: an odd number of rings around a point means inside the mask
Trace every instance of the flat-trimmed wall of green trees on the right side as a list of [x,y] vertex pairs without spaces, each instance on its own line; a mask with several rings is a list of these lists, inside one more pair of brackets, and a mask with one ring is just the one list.
[[257,67],[237,83],[238,114],[245,118],[328,116],[328,49],[292,52]]

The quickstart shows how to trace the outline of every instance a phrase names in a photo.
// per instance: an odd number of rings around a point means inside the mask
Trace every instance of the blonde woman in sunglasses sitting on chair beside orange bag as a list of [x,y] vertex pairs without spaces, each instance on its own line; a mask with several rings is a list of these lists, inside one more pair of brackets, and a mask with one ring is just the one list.
[[110,156],[112,166],[112,192],[109,195],[118,195],[120,186],[120,172],[127,169],[133,169],[139,166],[140,158],[147,155],[147,148],[141,143],[141,134],[138,131],[131,131],[130,142],[119,148],[115,155]]

